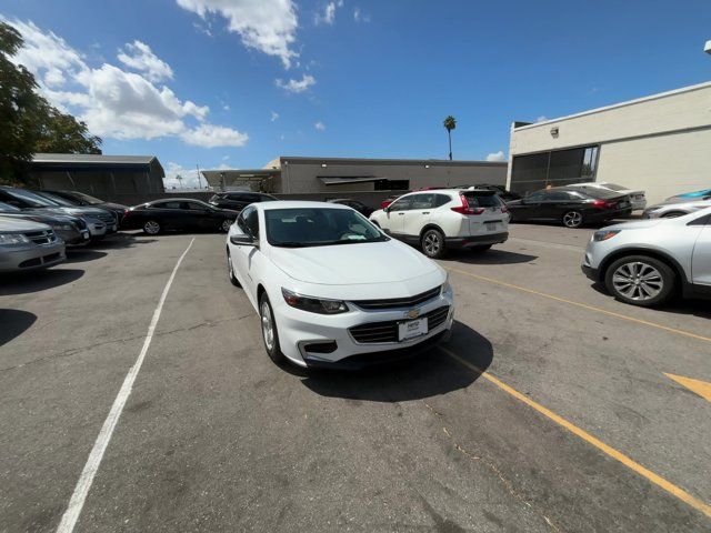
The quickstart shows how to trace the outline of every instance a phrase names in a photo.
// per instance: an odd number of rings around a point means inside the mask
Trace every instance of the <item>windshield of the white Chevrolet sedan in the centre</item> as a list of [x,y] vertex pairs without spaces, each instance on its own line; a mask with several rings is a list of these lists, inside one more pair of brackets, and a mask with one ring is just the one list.
[[264,221],[267,240],[273,247],[329,247],[389,240],[350,209],[268,209]]

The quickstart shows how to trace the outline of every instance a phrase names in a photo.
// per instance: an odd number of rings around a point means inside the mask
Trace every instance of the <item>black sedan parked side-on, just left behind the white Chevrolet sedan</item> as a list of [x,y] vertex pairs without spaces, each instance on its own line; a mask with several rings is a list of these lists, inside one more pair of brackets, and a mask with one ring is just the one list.
[[169,230],[228,231],[238,214],[191,198],[154,200],[126,211],[121,229],[143,230],[149,235]]

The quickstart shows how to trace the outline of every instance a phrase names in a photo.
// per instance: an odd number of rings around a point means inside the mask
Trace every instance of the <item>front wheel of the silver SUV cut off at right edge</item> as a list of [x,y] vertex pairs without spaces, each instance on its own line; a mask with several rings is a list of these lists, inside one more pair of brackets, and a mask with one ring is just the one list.
[[674,292],[677,274],[669,264],[649,255],[627,255],[614,261],[604,274],[604,284],[617,300],[651,308],[668,301]]

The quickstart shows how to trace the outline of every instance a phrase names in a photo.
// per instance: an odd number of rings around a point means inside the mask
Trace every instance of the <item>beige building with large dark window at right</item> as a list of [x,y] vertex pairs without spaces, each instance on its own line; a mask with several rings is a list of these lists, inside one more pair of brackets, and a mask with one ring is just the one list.
[[711,82],[511,127],[508,189],[608,181],[648,203],[711,188]]

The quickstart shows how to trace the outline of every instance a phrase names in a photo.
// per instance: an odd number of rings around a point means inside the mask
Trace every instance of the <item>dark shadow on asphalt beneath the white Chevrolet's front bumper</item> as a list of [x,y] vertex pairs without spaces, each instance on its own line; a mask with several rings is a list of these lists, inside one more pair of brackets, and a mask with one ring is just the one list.
[[[443,346],[482,371],[493,360],[491,342],[461,322],[454,323],[451,340]],[[292,369],[290,372],[302,376],[301,383],[319,395],[371,402],[403,402],[447,394],[467,389],[480,376],[439,348],[361,371]]]

